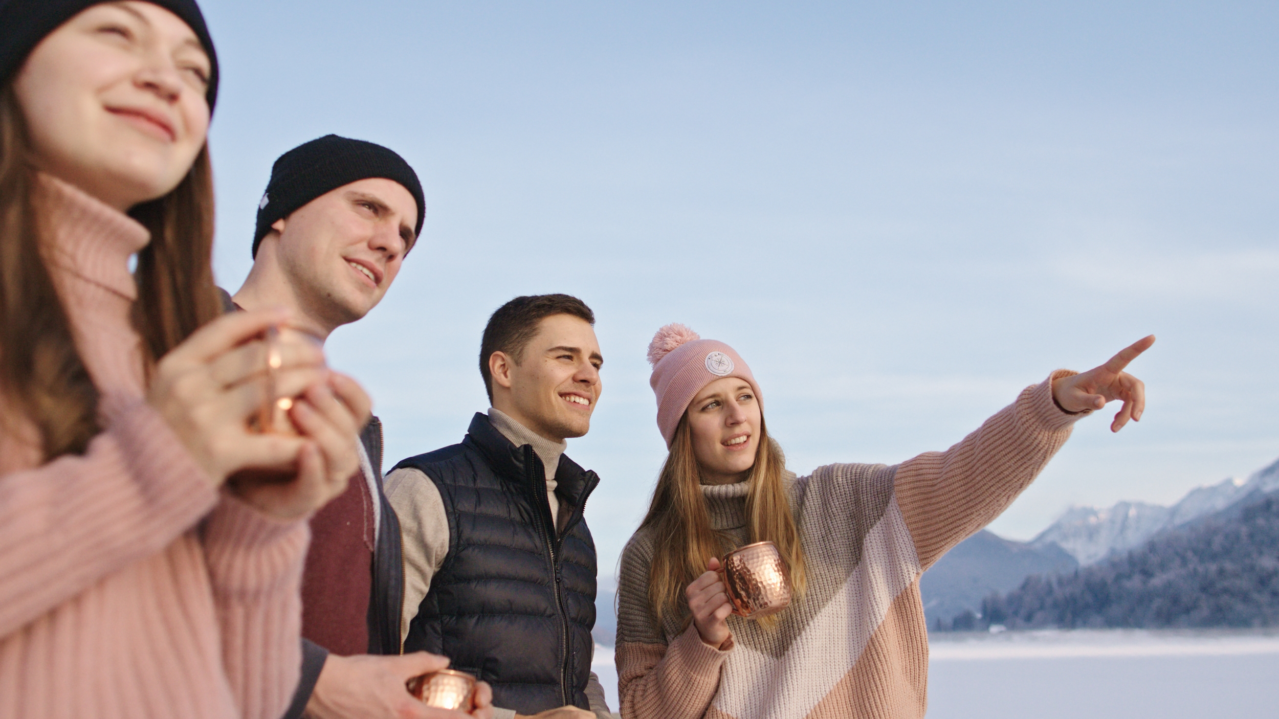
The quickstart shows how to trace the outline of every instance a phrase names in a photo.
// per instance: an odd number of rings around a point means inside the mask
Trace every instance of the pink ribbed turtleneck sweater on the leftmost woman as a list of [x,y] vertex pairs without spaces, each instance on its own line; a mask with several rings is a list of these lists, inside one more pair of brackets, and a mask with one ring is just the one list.
[[306,522],[220,494],[143,400],[138,223],[41,175],[51,274],[102,395],[84,455],[0,432],[0,718],[278,719],[298,681]]

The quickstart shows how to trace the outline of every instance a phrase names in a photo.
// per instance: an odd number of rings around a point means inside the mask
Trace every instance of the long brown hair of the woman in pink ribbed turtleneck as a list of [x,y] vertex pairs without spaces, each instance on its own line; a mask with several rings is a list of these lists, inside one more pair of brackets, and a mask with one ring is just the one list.
[[[84,452],[98,393],[45,264],[36,170],[13,84],[0,91],[0,394],[31,421],[45,461]],[[207,145],[169,194],[129,211],[151,232],[138,253],[133,325],[148,367],[220,311],[214,287],[214,187]],[[14,416],[17,415],[17,417]]]

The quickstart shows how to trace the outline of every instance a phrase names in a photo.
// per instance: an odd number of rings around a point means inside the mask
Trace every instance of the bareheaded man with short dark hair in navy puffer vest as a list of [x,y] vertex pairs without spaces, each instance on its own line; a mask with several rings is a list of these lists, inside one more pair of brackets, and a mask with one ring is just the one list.
[[582,517],[599,477],[564,455],[600,398],[593,324],[567,294],[500,307],[480,349],[487,415],[386,477],[404,531],[404,651],[489,682],[498,719],[609,711],[591,673],[596,558]]

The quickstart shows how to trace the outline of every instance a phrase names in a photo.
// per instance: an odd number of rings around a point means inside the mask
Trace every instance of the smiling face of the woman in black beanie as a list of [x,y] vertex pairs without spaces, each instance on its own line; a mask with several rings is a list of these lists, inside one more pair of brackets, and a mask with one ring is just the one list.
[[81,12],[14,77],[36,165],[122,211],[168,194],[205,145],[210,72],[196,33],[159,5]]

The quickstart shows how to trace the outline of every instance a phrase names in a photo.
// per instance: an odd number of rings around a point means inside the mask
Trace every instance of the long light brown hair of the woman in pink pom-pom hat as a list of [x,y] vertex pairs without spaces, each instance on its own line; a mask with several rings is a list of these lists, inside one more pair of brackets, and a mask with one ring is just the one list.
[[[748,478],[751,489],[746,495],[747,541],[770,540],[778,545],[798,595],[803,594],[806,585],[804,559],[783,481],[785,470],[781,449],[769,438],[761,415],[760,445],[755,450]],[[651,530],[655,537],[652,565],[648,568],[648,604],[654,614],[659,622],[668,612],[674,617],[687,614],[684,587],[706,571],[707,559],[734,549],[728,536],[711,527],[702,495],[701,470],[693,454],[688,412],[675,427],[648,514],[640,528]],[[776,617],[767,617],[762,623],[771,627],[775,620]]]

